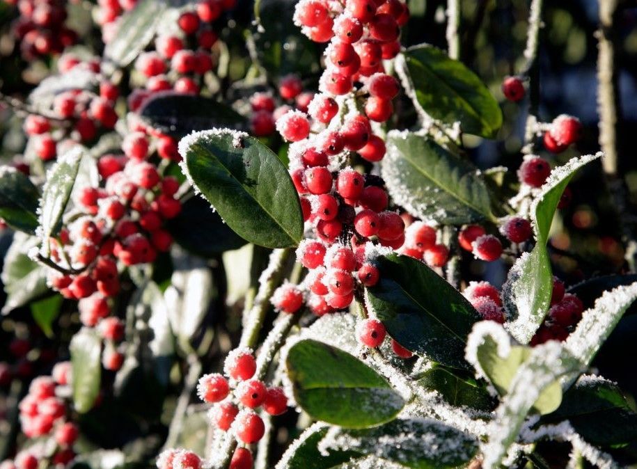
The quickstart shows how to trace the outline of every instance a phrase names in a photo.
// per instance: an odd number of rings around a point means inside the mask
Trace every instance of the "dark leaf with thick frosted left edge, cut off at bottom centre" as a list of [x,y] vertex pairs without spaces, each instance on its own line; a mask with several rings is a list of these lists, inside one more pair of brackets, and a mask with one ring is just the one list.
[[329,426],[321,422],[306,429],[285,451],[276,469],[331,469],[359,456],[355,451],[330,450],[321,454],[318,444],[325,438]]

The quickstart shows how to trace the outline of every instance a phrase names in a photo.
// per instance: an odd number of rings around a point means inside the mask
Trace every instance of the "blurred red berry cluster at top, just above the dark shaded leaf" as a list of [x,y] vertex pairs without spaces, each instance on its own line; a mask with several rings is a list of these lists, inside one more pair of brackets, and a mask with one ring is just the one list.
[[141,104],[164,90],[198,94],[203,75],[214,66],[210,49],[218,36],[210,24],[234,6],[235,0],[200,1],[194,11],[180,15],[178,33],[157,36],[155,50],[143,52],[135,62],[135,69],[146,77],[146,90],[136,90],[135,101]]

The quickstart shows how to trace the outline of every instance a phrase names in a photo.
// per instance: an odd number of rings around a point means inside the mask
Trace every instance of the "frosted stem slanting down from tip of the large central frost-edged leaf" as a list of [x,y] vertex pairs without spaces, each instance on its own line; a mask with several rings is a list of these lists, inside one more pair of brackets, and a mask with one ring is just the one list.
[[290,248],[275,249],[270,254],[268,267],[263,271],[259,279],[259,289],[255,296],[254,304],[246,317],[247,321],[244,325],[239,347],[254,348],[257,344],[263,320],[270,306],[270,298],[274,293],[274,289],[281,283],[285,265],[293,252]]

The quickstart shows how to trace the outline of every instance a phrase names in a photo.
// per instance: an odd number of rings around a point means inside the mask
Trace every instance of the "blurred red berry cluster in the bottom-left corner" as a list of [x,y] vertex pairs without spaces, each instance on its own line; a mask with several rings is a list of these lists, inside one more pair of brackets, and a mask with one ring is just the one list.
[[[45,458],[49,459],[50,466],[66,466],[74,459],[72,447],[79,436],[79,429],[66,420],[67,405],[60,397],[66,394],[63,388],[70,385],[70,380],[71,364],[57,363],[52,376],[39,376],[31,381],[29,392],[18,406],[24,434],[28,438],[50,438],[54,451],[45,452],[42,447],[34,445],[19,452],[13,461],[4,461],[1,469],[37,469]],[[56,392],[58,390],[61,392]]]

